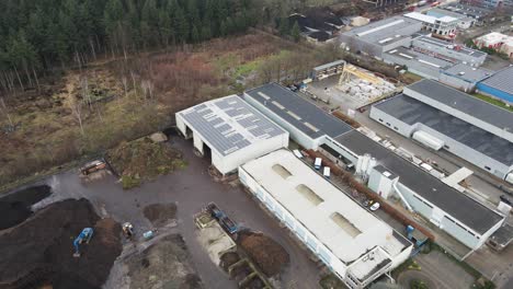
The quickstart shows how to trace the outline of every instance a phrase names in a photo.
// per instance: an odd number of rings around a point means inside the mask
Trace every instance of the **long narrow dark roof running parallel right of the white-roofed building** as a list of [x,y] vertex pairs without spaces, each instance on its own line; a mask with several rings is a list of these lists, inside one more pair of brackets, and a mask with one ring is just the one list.
[[353,130],[337,140],[360,155],[369,153],[378,163],[399,175],[401,184],[480,234],[486,233],[503,219],[495,211],[447,186],[360,131]]

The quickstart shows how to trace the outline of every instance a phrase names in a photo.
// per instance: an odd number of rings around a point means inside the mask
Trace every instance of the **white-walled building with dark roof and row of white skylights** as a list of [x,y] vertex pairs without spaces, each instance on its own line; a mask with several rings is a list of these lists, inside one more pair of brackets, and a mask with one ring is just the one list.
[[244,100],[285,128],[307,149],[317,149],[326,136],[338,137],[352,129],[332,115],[276,83],[244,92]]

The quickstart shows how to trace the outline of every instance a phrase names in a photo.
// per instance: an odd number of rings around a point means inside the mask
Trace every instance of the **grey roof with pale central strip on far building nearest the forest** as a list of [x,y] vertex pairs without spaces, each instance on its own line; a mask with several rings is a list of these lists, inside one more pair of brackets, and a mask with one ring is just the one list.
[[396,36],[398,31],[412,24],[420,23],[417,20],[404,16],[392,16],[376,22],[371,22],[365,26],[355,27],[344,32],[343,35],[358,37],[368,42],[377,43],[384,38]]

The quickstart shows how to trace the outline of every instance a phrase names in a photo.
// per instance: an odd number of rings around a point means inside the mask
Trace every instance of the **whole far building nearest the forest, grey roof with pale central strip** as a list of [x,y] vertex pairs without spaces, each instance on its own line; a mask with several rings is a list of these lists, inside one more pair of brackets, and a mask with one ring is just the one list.
[[340,35],[343,47],[352,51],[383,58],[385,51],[400,46],[410,46],[412,35],[420,32],[422,22],[394,16],[356,27]]

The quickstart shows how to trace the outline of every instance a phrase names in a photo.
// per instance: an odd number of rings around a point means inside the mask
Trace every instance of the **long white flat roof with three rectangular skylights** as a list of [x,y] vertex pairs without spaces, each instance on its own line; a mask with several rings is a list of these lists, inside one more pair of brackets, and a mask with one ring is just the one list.
[[276,150],[241,167],[346,265],[376,246],[396,256],[409,245],[288,150]]

